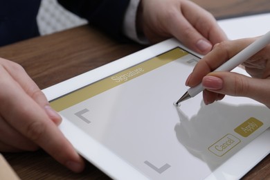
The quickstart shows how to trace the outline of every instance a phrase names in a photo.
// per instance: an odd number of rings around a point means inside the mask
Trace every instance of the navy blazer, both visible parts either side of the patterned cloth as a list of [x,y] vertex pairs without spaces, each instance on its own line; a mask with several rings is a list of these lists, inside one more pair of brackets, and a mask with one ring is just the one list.
[[[0,0],[0,46],[39,35],[41,0]],[[66,9],[114,37],[121,37],[129,0],[58,0]]]

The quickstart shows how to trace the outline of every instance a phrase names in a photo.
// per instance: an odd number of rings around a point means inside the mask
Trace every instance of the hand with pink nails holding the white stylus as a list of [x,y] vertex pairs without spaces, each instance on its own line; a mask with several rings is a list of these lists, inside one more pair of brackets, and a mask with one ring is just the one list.
[[270,44],[242,64],[252,78],[233,72],[212,72],[255,39],[237,39],[216,44],[213,51],[197,63],[186,85],[195,87],[202,82],[206,105],[229,95],[253,98],[270,108]]

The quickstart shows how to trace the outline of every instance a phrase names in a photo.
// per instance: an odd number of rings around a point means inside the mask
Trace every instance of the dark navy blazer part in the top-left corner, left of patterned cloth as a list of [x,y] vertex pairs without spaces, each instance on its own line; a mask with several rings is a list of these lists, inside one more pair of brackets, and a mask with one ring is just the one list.
[[39,35],[41,0],[0,0],[0,46]]

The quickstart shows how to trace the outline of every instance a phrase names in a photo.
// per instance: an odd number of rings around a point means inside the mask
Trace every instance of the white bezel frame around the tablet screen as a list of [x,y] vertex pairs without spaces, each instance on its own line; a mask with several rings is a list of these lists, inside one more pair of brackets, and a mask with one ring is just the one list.
[[[104,66],[100,66],[97,69],[88,71],[74,78],[55,84],[52,87],[43,89],[42,91],[48,98],[48,100],[54,100],[64,96],[67,93],[71,93],[77,89],[87,86],[98,80],[108,77],[119,71],[123,71],[131,66],[139,64],[145,60],[149,60],[156,55],[170,51],[172,48],[180,47],[186,51],[198,56],[201,55],[190,51],[188,48],[180,44],[176,39],[168,39],[154,46],[150,46],[141,51],[127,55]],[[79,154],[85,159],[96,165],[97,168],[109,175],[113,179],[149,179],[145,174],[138,171],[132,165],[127,163],[124,159],[114,154],[107,149],[107,147],[101,145],[95,139],[91,138],[88,134],[82,132],[78,127],[75,127],[69,120],[63,117],[60,129],[66,138],[71,142]],[[78,138],[80,137],[80,138]],[[80,141],[78,141],[80,139]],[[87,139],[87,143],[82,140]],[[251,152],[256,152],[254,156],[250,156],[246,159]],[[270,152],[270,130],[255,138],[251,143],[246,145],[242,150],[237,152],[231,159],[228,159],[217,170],[207,177],[207,179],[220,179],[224,176],[228,179],[239,179],[246,174],[251,168],[253,168],[258,162],[260,162]],[[244,159],[243,162],[240,160]],[[235,167],[235,163],[238,163]],[[226,175],[227,174],[227,175]]]

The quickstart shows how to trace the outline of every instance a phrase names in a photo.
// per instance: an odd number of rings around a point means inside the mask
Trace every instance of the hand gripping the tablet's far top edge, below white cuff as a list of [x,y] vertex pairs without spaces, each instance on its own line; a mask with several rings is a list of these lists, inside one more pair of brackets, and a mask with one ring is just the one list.
[[226,40],[213,15],[187,0],[142,0],[137,27],[152,43],[176,37],[201,54]]

